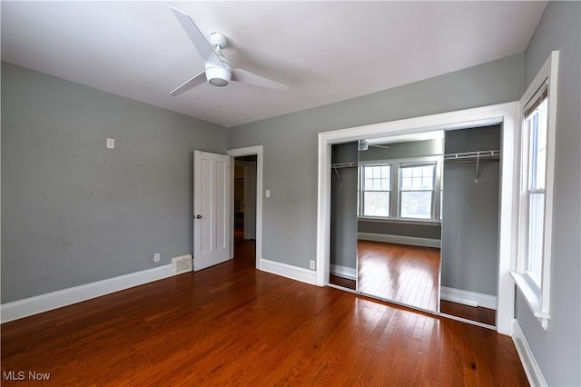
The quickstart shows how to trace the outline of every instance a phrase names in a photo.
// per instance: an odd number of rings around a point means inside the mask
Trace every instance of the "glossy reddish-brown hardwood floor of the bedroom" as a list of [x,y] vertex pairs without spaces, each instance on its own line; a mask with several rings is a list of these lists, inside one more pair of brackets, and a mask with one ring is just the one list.
[[2,384],[527,385],[507,336],[257,271],[252,248],[2,324]]

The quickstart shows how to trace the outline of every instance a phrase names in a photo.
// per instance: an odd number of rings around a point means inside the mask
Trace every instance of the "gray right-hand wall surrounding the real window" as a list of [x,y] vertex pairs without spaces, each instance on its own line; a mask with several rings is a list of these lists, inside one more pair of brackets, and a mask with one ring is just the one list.
[[542,330],[517,295],[517,320],[549,385],[581,385],[581,3],[550,2],[525,53],[528,86],[560,50],[551,268],[551,320]]

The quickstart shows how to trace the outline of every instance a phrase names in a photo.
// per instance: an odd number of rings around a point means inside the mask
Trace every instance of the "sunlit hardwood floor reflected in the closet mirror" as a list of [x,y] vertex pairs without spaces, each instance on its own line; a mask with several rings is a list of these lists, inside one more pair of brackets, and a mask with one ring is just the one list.
[[359,240],[358,290],[438,312],[440,251]]

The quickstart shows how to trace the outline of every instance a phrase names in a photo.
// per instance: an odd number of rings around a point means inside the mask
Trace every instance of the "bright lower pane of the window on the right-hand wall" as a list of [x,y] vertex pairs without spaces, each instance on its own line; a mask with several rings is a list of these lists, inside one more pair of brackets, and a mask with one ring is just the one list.
[[527,273],[540,286],[543,266],[543,223],[545,218],[545,193],[530,193],[527,219]]

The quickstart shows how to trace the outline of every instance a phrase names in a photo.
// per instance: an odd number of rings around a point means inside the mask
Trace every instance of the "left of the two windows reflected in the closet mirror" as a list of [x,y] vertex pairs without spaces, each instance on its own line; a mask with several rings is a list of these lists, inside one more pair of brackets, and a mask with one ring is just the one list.
[[391,165],[362,165],[363,216],[389,217]]

